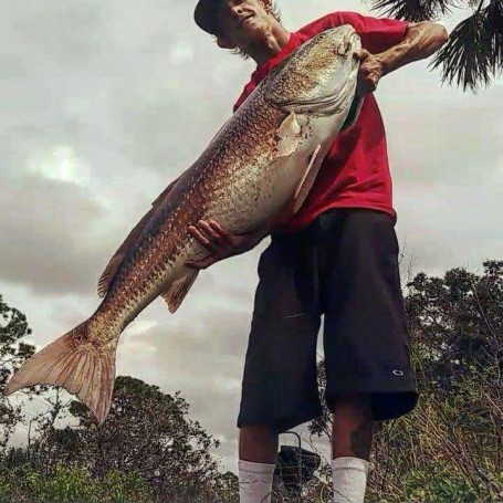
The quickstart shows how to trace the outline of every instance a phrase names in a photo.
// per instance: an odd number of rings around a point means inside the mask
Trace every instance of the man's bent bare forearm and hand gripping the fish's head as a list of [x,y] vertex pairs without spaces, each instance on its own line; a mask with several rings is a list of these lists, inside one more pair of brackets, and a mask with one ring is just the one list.
[[413,61],[429,57],[447,41],[449,34],[441,24],[423,21],[410,23],[404,41],[379,54],[370,54],[363,49],[358,52],[361,65],[358,75],[359,95],[371,93],[383,75]]

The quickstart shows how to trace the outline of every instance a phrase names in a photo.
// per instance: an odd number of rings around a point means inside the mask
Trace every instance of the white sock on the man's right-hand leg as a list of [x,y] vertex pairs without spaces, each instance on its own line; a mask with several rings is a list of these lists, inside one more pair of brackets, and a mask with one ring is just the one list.
[[370,463],[359,458],[336,458],[332,461],[334,503],[364,503]]

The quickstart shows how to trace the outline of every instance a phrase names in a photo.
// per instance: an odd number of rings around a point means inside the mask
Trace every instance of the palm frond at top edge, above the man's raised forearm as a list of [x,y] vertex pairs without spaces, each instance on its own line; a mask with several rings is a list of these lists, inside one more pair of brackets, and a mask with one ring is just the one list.
[[381,14],[420,22],[432,21],[448,14],[454,0],[376,0],[371,2],[374,10]]

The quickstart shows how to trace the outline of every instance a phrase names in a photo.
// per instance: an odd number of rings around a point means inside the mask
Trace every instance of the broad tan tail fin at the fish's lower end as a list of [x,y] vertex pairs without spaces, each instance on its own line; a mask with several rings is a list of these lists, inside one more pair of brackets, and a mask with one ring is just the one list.
[[102,425],[115,380],[115,353],[86,340],[88,321],[33,355],[10,379],[3,395],[34,385],[54,385],[75,395]]

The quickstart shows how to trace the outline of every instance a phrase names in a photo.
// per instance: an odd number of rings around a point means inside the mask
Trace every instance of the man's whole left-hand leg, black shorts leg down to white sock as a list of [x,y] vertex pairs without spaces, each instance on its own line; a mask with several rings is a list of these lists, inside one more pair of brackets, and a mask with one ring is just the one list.
[[238,417],[241,503],[271,501],[276,431],[323,411],[316,383],[321,315],[314,304],[311,241],[308,227],[275,235],[260,258]]

